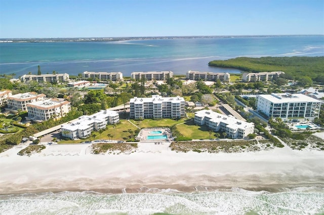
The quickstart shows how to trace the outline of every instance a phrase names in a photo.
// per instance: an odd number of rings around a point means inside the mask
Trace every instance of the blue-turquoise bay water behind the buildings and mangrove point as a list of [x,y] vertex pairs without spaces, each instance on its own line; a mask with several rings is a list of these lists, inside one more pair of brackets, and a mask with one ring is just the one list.
[[324,36],[177,38],[111,42],[0,43],[0,74],[189,70],[240,73],[209,67],[235,57],[324,56]]

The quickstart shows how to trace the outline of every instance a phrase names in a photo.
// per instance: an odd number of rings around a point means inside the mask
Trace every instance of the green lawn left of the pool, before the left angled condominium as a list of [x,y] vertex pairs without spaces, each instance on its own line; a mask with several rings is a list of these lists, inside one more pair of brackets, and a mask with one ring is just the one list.
[[[120,120],[120,124],[116,125],[116,128],[113,128],[112,125],[109,125],[107,127],[108,129],[105,130],[102,134],[99,134],[98,131],[93,132],[93,134],[96,134],[95,137],[96,140],[109,140],[108,134],[112,135],[110,139],[113,140],[127,140],[129,139],[129,136],[131,135],[129,130],[136,130],[136,127],[133,126],[131,123],[129,123],[127,120]],[[82,143],[84,141],[93,141],[93,137],[88,137],[86,139],[80,139],[80,140],[62,140],[58,143]]]

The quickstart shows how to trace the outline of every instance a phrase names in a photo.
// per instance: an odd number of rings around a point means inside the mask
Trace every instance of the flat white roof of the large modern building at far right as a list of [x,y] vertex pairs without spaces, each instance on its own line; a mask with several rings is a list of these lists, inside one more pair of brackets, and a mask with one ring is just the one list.
[[286,102],[320,102],[315,98],[299,93],[271,93],[271,95],[258,95],[273,103],[286,103]]

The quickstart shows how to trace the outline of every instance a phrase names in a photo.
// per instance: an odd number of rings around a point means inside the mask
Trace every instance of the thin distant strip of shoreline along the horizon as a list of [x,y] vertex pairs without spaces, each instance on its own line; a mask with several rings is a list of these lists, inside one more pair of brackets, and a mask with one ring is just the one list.
[[194,39],[194,38],[244,38],[244,37],[299,37],[324,36],[321,34],[301,35],[224,35],[224,36],[148,36],[148,37],[66,37],[66,38],[0,38],[0,43],[16,42],[113,42],[152,39]]

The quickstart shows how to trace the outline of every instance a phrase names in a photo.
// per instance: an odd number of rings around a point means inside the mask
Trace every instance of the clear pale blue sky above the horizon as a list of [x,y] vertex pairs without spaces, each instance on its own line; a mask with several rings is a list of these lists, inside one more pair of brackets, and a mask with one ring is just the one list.
[[0,0],[0,38],[324,34],[323,0]]

